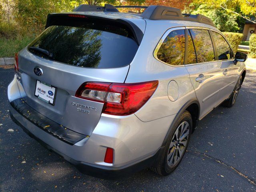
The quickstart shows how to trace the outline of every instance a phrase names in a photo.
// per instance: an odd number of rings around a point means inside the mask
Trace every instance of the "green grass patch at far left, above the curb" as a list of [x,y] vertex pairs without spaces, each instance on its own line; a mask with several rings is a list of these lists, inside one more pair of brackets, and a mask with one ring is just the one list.
[[1,57],[14,57],[14,54],[26,47],[34,36],[18,36],[15,38],[0,37],[0,58]]

